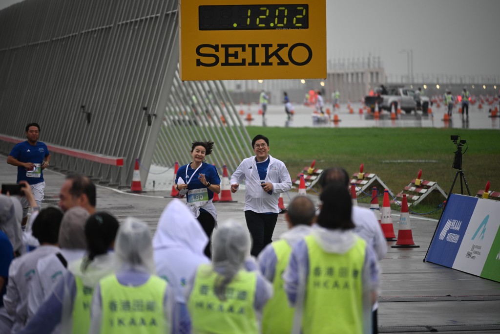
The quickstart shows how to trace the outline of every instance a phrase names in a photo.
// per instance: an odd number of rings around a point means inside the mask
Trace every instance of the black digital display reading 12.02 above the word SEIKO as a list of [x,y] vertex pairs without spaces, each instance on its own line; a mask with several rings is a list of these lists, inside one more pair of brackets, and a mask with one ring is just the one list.
[[199,6],[199,30],[308,29],[308,5]]

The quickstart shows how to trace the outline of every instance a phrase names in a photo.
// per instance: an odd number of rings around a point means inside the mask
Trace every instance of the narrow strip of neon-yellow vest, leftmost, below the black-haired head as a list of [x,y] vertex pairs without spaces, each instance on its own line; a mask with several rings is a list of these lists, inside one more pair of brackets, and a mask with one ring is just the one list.
[[90,305],[92,303],[93,287],[84,286],[81,277],[74,276],[76,295],[71,316],[71,333],[86,334],[90,327]]

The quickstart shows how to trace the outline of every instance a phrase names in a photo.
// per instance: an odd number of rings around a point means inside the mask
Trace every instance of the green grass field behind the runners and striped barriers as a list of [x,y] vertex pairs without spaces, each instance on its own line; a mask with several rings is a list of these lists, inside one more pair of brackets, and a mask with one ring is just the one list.
[[[456,146],[450,135],[467,141],[462,156],[471,195],[484,189],[500,191],[500,131],[432,128],[278,128],[246,127],[250,138],[269,138],[269,154],[282,160],[292,178],[316,160],[316,168],[340,166],[352,175],[364,164],[365,173],[377,174],[394,193],[401,191],[422,170],[422,179],[436,181],[447,193],[456,169],[451,168]],[[465,147],[464,147],[465,148]],[[453,193],[460,192],[455,183]],[[464,187],[464,193],[466,193]],[[429,212],[431,203],[415,212]],[[380,202],[381,205],[381,202]]]

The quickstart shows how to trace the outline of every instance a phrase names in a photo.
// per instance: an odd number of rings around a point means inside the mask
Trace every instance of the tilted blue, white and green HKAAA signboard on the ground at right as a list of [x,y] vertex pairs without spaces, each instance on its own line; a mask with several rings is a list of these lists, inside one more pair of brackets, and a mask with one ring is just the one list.
[[451,194],[425,261],[500,282],[500,202]]

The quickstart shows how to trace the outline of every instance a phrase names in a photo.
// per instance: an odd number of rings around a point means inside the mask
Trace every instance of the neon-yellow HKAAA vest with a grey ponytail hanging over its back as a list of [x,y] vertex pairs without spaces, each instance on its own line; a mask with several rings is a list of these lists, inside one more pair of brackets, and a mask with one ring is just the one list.
[[226,286],[226,300],[219,300],[213,291],[217,277],[209,264],[201,264],[196,270],[187,300],[192,332],[257,334],[257,317],[253,309],[257,274],[239,270]]

